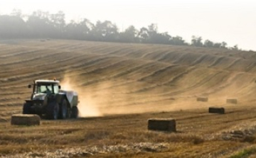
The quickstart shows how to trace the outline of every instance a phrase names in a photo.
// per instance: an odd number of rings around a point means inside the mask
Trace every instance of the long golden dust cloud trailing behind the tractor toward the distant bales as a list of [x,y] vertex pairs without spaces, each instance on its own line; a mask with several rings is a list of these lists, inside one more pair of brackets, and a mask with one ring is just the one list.
[[[78,93],[79,117],[99,117],[105,115],[151,113],[163,111],[183,111],[196,108],[207,108],[208,106],[221,105],[225,98],[210,96],[208,103],[196,101],[196,96],[158,96],[154,94],[131,93],[139,86],[130,86],[127,81],[102,81],[90,85],[81,85],[82,79],[65,75],[60,81],[61,89],[76,91]],[[161,91],[159,91],[161,93]],[[213,97],[213,98],[212,98]]]

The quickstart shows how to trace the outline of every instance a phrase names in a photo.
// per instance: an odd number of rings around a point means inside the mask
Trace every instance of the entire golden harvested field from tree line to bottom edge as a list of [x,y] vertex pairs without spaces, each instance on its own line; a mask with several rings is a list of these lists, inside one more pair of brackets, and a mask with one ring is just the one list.
[[[256,156],[255,52],[95,43],[0,40],[0,157]],[[77,120],[11,125],[33,79],[60,80],[80,96]],[[207,102],[196,101],[208,96]],[[239,104],[226,103],[239,98]],[[208,113],[211,105],[225,115]],[[147,130],[174,118],[177,132]]]

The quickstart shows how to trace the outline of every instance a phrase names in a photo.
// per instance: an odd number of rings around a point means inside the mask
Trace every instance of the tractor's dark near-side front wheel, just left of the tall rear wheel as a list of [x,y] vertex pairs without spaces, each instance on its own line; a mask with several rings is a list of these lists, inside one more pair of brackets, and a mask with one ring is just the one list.
[[46,107],[46,117],[50,120],[57,120],[59,110],[60,107],[55,101],[48,103],[48,106]]

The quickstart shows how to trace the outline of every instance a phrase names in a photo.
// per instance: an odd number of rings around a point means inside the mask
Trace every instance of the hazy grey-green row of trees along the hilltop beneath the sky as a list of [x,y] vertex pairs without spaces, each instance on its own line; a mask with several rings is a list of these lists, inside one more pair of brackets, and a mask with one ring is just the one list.
[[92,40],[121,43],[154,43],[164,45],[191,45],[195,47],[218,47],[238,50],[238,46],[227,47],[227,43],[213,43],[201,37],[193,36],[187,43],[180,36],[159,33],[157,25],[152,23],[140,29],[129,26],[123,31],[111,21],[90,22],[87,18],[81,21],[65,22],[65,13],[34,11],[23,15],[14,10],[10,15],[0,15],[0,38],[55,38],[70,40]]

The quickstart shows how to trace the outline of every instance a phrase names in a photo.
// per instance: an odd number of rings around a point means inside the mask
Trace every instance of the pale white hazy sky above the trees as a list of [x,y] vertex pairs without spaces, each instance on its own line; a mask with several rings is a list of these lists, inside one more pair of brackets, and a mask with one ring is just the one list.
[[225,41],[244,50],[256,50],[255,0],[0,0],[0,13],[21,9],[30,14],[38,9],[64,11],[66,20],[87,18],[112,21],[119,30],[130,25],[137,29],[156,23],[159,32],[179,35],[190,43],[191,36]]

